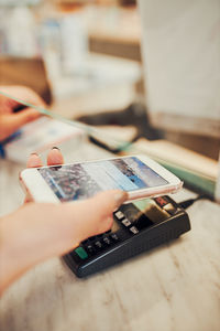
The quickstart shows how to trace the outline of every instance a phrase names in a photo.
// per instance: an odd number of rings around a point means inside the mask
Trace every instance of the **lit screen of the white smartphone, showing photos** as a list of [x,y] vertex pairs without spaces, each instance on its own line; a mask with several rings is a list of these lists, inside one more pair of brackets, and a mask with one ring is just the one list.
[[100,191],[135,191],[168,182],[136,157],[37,169],[61,201],[86,199]]

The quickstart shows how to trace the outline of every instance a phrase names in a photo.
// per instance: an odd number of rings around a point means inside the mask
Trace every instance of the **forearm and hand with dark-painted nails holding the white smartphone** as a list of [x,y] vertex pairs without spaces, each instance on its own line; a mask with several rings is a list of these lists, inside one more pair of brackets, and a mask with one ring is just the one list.
[[[51,151],[61,163],[58,150]],[[32,154],[30,167],[41,166]],[[95,197],[68,203],[26,203],[0,220],[0,292],[24,271],[50,257],[61,256],[81,241],[112,226],[112,212],[128,194],[113,190]]]

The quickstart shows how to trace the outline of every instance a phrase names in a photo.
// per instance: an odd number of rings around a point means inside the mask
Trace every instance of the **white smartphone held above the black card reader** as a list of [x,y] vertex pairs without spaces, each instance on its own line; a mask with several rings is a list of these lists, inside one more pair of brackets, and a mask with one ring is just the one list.
[[183,182],[145,156],[25,169],[21,181],[36,202],[87,199],[100,191],[128,191],[129,200],[178,191]]

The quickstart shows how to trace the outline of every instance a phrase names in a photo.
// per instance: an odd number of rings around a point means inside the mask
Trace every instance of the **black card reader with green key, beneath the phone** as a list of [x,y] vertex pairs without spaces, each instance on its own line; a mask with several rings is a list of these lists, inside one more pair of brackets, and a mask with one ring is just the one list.
[[178,238],[190,229],[188,214],[169,196],[123,204],[111,231],[88,238],[64,256],[77,277],[86,277]]

